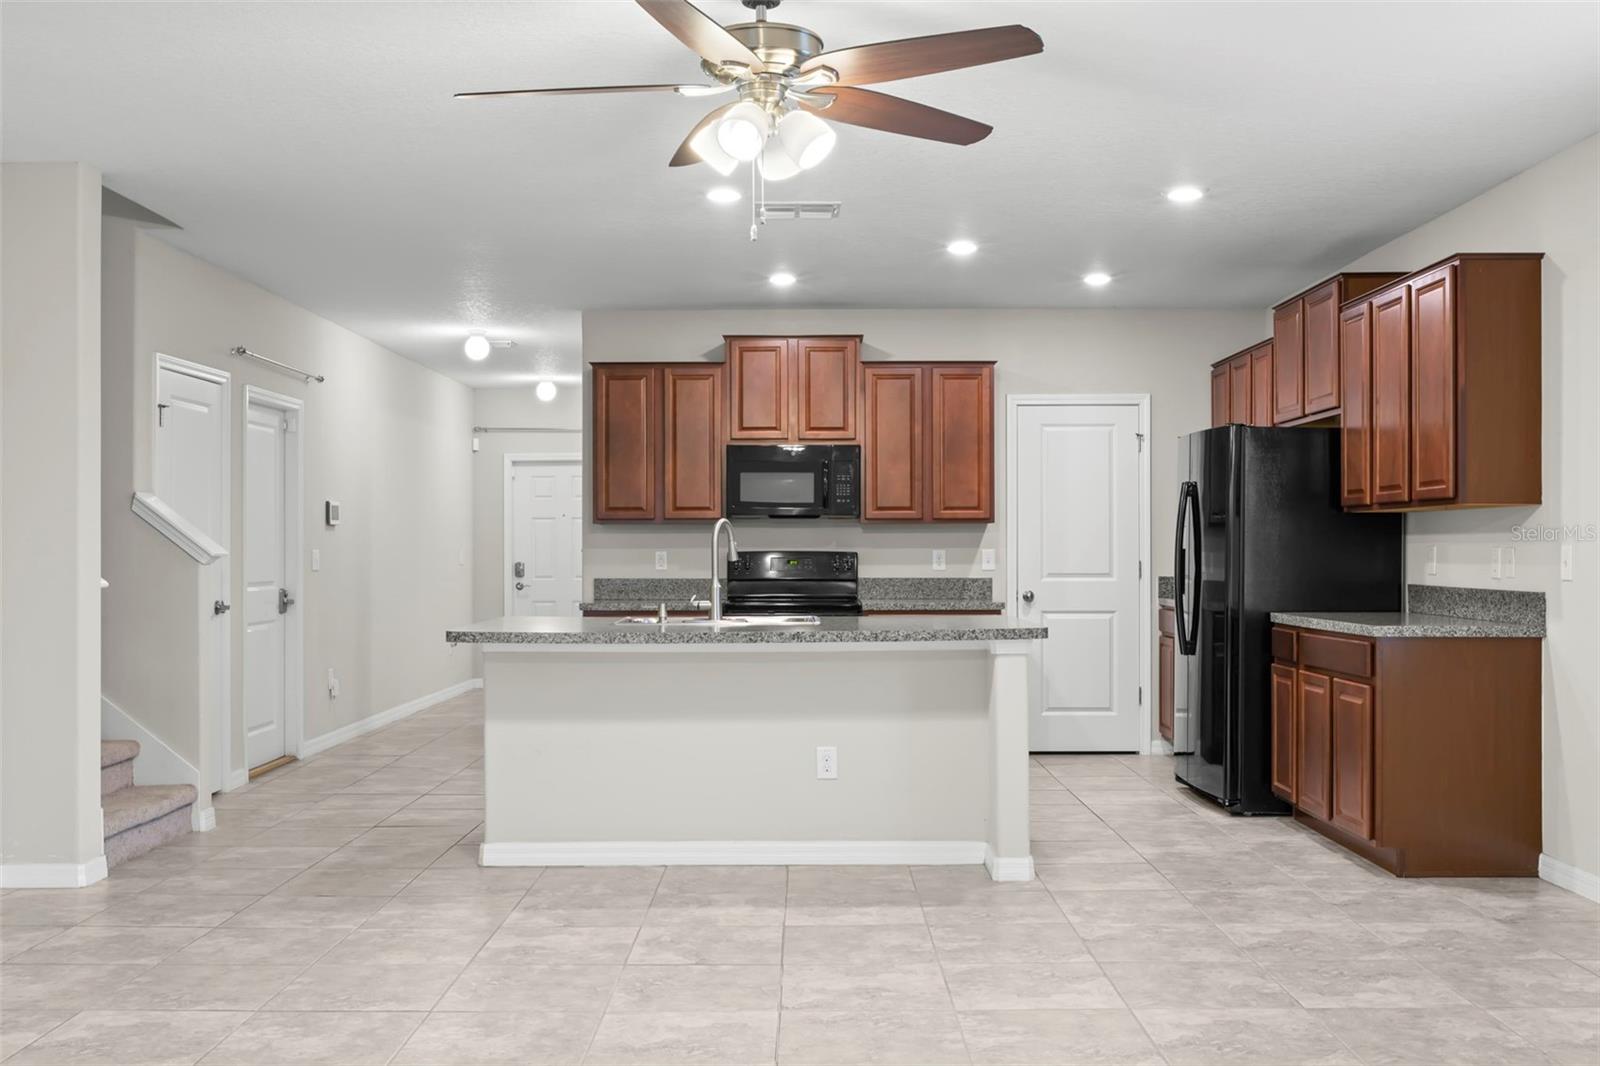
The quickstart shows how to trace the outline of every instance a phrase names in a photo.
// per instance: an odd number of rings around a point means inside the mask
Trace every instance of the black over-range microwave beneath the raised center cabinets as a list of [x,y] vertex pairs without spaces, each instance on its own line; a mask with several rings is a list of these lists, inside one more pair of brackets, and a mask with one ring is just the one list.
[[861,445],[728,445],[730,519],[861,515]]

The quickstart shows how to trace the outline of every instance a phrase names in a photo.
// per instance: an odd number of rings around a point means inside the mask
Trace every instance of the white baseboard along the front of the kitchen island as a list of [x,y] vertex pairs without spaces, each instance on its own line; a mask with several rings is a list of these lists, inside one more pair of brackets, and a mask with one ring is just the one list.
[[[600,840],[482,844],[482,866],[976,866],[982,840]],[[1029,860],[1032,868],[1032,860]]]

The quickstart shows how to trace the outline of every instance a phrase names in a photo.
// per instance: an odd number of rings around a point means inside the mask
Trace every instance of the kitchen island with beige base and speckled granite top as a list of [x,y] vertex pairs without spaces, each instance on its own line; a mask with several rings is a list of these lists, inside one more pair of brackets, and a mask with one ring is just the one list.
[[984,863],[1029,880],[1043,637],[994,616],[451,629],[483,650],[480,863]]

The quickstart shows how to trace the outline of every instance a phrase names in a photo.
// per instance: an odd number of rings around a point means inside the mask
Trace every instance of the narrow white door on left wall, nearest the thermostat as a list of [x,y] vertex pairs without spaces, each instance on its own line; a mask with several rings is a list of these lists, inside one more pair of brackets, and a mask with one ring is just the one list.
[[285,493],[288,415],[245,410],[245,765],[286,754],[288,581]]

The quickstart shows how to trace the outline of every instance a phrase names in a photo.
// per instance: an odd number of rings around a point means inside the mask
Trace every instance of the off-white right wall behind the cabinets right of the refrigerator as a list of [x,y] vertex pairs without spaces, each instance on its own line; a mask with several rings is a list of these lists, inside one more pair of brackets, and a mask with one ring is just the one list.
[[[1456,251],[1542,251],[1544,504],[1418,514],[1406,525],[1411,581],[1536,589],[1549,605],[1544,643],[1544,852],[1600,877],[1600,138],[1362,256],[1349,269],[1410,271]],[[1517,527],[1587,536],[1520,541]],[[1573,579],[1558,552],[1573,549]],[[1429,547],[1438,576],[1427,578]],[[1517,549],[1517,575],[1494,581],[1490,554]]]

